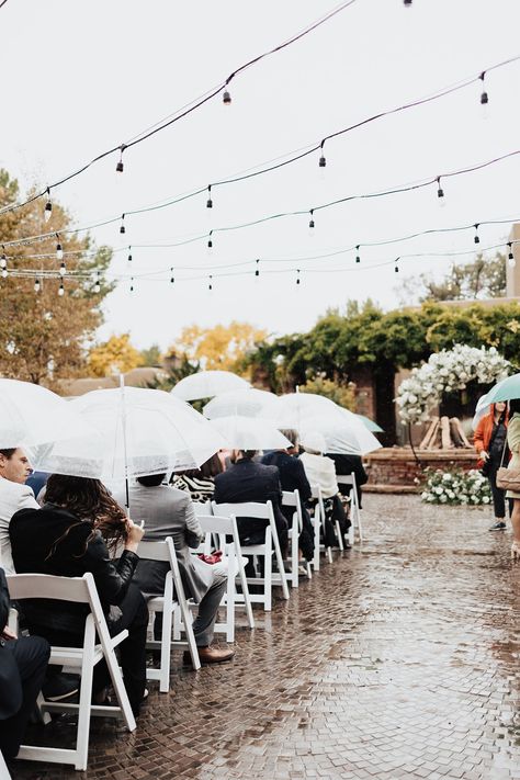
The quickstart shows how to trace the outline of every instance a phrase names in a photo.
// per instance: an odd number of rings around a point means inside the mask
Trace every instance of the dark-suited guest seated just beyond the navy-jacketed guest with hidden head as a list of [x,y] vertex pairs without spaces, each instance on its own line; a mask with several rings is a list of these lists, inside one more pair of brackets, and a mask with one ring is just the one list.
[[[299,493],[303,528],[298,539],[298,546],[305,558],[312,561],[314,555],[314,531],[305,507],[312,493],[303,463],[295,456],[298,452],[298,433],[292,428],[282,429],[280,432],[289,439],[291,446],[285,450],[271,450],[263,455],[261,462],[265,466],[276,466],[280,472],[282,490],[289,490],[290,493],[297,490]],[[294,507],[282,505],[282,512],[287,523],[291,524]]]

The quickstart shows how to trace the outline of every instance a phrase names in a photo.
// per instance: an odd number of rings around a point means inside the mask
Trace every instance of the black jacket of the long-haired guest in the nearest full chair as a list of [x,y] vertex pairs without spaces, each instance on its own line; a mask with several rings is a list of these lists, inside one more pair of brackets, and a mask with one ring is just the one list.
[[[111,606],[120,604],[126,596],[139,558],[124,550],[117,563],[113,563],[99,531],[88,541],[91,533],[91,522],[81,521],[53,504],[38,510],[21,509],[9,527],[16,573],[82,577],[91,572],[101,606],[108,613]],[[49,599],[25,599],[22,606],[29,625],[46,625],[69,633],[82,632],[89,612],[87,604]]]

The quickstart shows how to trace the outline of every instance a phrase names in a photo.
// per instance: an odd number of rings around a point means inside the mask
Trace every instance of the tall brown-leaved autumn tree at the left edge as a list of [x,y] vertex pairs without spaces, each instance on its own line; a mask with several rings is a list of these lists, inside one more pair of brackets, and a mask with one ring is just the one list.
[[[18,182],[0,170],[0,207],[18,200]],[[112,290],[102,276],[112,253],[108,247],[94,249],[88,236],[78,238],[66,234],[70,226],[70,216],[56,202],[53,202],[48,223],[44,221],[41,200],[0,214],[0,245],[50,234],[36,244],[5,247],[8,276],[0,280],[0,374],[3,376],[52,386],[58,378],[84,371],[89,341],[102,323],[101,303]],[[66,261],[63,296],[58,295],[58,242]],[[36,271],[39,271],[39,292],[35,292]],[[94,290],[94,271],[101,273],[99,293]]]

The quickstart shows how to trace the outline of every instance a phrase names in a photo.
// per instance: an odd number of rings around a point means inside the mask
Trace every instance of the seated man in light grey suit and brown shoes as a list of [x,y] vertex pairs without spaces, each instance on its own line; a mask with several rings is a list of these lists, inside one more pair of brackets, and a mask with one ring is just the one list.
[[[192,555],[190,547],[196,549],[204,538],[195,510],[185,490],[162,485],[166,474],[154,474],[137,478],[131,485],[128,497],[132,511],[146,525],[146,541],[161,541],[171,536],[176,547],[182,584],[188,598],[199,603],[199,613],[193,622],[193,633],[202,663],[214,664],[229,660],[235,652],[211,647],[218,606],[227,587],[227,575]],[[116,496],[122,501],[124,496]],[[135,581],[148,595],[162,594],[165,578],[170,566],[160,561],[139,561]],[[156,618],[155,632],[158,633]]]

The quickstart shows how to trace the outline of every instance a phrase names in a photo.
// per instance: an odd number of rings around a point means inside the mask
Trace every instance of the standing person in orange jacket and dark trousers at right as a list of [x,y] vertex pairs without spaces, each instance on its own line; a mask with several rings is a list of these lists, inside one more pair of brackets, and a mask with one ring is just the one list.
[[[491,488],[495,522],[489,531],[506,530],[505,490],[497,487],[497,471],[500,463],[507,464],[509,453],[505,452],[508,427],[508,412],[505,402],[491,404],[489,411],[478,422],[475,429],[474,445],[478,453],[478,466],[489,479]],[[511,513],[511,507],[509,507]]]

